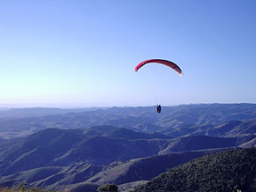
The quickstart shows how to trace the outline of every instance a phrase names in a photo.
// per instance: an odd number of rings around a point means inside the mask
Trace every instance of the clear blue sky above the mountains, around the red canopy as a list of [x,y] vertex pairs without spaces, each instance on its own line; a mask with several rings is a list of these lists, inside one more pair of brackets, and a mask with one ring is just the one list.
[[[184,77],[134,72],[150,58]],[[0,0],[0,107],[256,103],[255,83],[255,0]]]

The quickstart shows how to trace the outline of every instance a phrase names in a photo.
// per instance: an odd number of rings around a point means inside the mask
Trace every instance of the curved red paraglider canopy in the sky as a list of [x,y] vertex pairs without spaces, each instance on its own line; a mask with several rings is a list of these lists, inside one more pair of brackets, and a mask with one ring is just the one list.
[[164,60],[164,59],[149,59],[146,60],[144,62],[139,63],[135,68],[135,72],[137,72],[139,70],[139,68],[141,68],[142,66],[144,66],[147,63],[162,63],[170,68],[172,68],[173,70],[176,70],[177,73],[180,75],[180,77],[183,76],[183,71],[177,66],[176,63],[173,62],[169,62],[168,60]]

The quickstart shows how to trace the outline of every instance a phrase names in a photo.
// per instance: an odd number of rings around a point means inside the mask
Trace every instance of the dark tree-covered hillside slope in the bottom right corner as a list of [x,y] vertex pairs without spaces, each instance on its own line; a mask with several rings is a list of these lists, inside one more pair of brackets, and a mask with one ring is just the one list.
[[256,191],[256,149],[207,155],[136,188],[134,192]]

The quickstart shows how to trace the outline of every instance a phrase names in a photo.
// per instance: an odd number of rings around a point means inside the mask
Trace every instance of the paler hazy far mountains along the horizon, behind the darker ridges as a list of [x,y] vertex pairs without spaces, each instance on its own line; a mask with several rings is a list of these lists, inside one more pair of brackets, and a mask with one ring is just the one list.
[[234,137],[254,133],[255,119],[255,104],[162,107],[161,114],[156,113],[155,107],[21,108],[0,111],[0,137],[24,137],[48,128],[85,129],[99,125],[158,132],[169,137]]

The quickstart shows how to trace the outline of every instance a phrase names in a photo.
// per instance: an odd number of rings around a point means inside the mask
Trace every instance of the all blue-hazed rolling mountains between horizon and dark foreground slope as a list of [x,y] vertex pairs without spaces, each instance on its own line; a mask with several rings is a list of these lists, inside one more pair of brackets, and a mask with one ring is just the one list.
[[128,191],[192,159],[256,146],[253,104],[22,110],[0,111],[0,187]]

